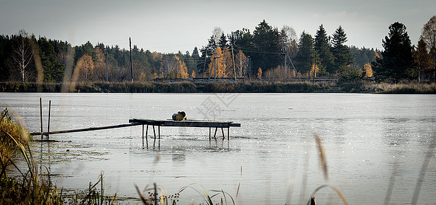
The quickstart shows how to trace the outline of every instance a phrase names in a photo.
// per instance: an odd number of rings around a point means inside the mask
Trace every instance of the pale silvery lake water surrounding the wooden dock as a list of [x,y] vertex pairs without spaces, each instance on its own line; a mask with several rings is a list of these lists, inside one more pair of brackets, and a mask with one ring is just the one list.
[[[0,93],[0,108],[40,131],[40,97],[45,131],[49,100],[51,131],[165,120],[177,111],[241,123],[230,128],[230,141],[220,131],[209,141],[208,128],[161,127],[160,148],[149,137],[149,149],[142,147],[141,126],[51,135],[60,142],[34,142],[32,150],[58,187],[86,189],[104,172],[107,191],[122,197],[138,197],[134,184],[144,189],[156,182],[173,194],[195,183],[180,193],[180,204],[204,203],[195,191],[200,186],[235,198],[239,182],[237,204],[305,204],[326,183],[350,204],[383,204],[387,195],[390,204],[409,204],[422,173],[417,202],[435,204],[435,95]],[[322,139],[328,182],[314,135]],[[341,202],[332,189],[315,197],[320,204]]]

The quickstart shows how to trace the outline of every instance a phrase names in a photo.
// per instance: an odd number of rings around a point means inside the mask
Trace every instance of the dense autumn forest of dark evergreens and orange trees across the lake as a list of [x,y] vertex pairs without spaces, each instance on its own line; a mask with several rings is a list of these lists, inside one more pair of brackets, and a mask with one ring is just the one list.
[[[433,16],[426,24],[428,38],[432,32],[436,33],[435,20]],[[252,32],[244,28],[225,34],[215,27],[208,44],[193,48],[192,53],[158,53],[135,45],[131,51],[102,43],[71,46],[62,40],[36,38],[22,29],[12,36],[0,36],[0,81],[123,82],[195,77],[289,81],[297,77],[340,78],[344,74],[372,77],[374,66],[378,69],[374,76],[380,81],[434,80],[435,45],[426,40],[424,30],[415,47],[405,26],[396,25],[383,40],[385,51],[378,51],[347,46],[346,31],[341,26],[328,35],[324,26],[319,25],[314,36],[303,31],[298,37],[292,27],[285,25],[278,29],[263,20]],[[402,53],[407,57],[400,57],[407,60],[402,63],[407,68],[401,74],[389,71],[398,66],[387,61],[391,61],[387,59],[392,55],[389,46],[396,46],[391,42],[397,42],[397,36],[402,36],[402,44],[407,45]]]

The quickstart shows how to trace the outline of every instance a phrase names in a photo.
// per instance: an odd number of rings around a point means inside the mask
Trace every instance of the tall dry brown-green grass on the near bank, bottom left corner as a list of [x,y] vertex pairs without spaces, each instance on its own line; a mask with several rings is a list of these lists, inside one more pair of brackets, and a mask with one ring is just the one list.
[[[114,204],[116,195],[104,195],[102,173],[94,185],[90,184],[88,193],[74,194],[67,202],[63,189],[51,183],[47,167],[34,160],[27,130],[8,109],[1,112],[0,154],[0,204]],[[47,177],[38,173],[41,168],[47,170]],[[19,175],[9,176],[12,173]]]

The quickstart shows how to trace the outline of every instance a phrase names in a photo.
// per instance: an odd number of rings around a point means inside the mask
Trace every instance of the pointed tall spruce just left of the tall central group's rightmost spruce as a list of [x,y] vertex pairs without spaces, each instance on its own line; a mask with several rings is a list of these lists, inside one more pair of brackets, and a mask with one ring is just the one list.
[[326,70],[328,73],[333,73],[333,54],[330,52],[330,44],[328,44],[328,36],[323,25],[319,26],[315,35],[315,50],[319,55],[319,67],[321,70]]

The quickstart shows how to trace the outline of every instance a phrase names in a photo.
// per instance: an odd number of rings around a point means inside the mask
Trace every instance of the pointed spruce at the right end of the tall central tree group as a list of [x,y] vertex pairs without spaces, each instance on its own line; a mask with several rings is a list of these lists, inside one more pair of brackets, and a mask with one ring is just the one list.
[[332,35],[332,54],[335,57],[335,67],[330,70],[330,74],[335,74],[337,70],[351,63],[350,49],[345,45],[347,36],[342,27],[339,26]]

